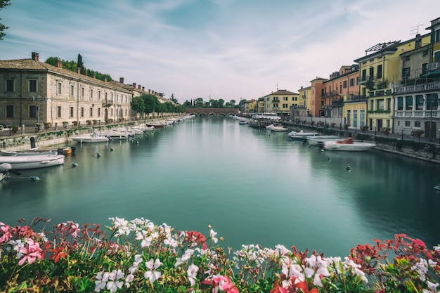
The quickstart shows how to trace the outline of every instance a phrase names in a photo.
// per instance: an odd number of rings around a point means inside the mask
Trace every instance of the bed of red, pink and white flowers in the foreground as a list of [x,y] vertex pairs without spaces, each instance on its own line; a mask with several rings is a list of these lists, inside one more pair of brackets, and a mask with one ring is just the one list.
[[[396,235],[326,257],[283,245],[233,252],[146,219],[112,226],[0,222],[1,292],[437,292],[440,247]],[[43,225],[37,232],[37,225]],[[37,291],[35,291],[37,289]]]

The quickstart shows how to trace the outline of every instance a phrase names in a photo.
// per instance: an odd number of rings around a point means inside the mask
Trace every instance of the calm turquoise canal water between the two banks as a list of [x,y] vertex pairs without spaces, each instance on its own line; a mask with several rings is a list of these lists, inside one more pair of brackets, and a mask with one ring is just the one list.
[[282,244],[326,256],[396,233],[440,243],[439,165],[429,162],[377,150],[321,152],[231,117],[75,146],[63,166],[0,182],[0,221],[110,226],[109,217],[143,217],[205,235],[212,225],[233,249]]

